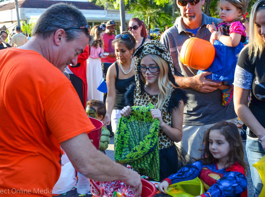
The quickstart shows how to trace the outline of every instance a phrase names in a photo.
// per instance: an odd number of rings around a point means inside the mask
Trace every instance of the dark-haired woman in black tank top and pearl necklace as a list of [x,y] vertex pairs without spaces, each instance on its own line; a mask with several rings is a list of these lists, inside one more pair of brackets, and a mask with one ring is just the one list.
[[135,52],[135,38],[128,31],[115,36],[112,41],[118,60],[107,71],[106,82],[108,94],[106,99],[106,116],[104,125],[111,120],[112,131],[115,133],[121,109],[124,107],[124,93],[127,87],[135,82],[135,64],[132,55]]

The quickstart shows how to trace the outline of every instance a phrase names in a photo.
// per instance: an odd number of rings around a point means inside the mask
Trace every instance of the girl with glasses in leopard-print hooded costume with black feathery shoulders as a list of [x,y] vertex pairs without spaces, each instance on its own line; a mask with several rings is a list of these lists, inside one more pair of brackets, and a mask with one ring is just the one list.
[[[159,179],[177,172],[178,152],[174,142],[182,138],[183,109],[186,93],[175,88],[174,67],[170,53],[158,40],[145,42],[135,52],[135,81],[125,94],[128,100],[122,116],[131,114],[133,105],[155,106],[151,115],[159,120]],[[130,96],[133,98],[130,98]]]

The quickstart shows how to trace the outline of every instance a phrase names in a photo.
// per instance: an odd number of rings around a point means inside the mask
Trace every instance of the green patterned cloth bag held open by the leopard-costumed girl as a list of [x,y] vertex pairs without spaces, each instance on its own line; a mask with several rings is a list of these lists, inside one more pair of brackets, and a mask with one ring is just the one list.
[[152,104],[133,106],[130,116],[119,119],[114,157],[140,174],[159,180],[159,120],[152,118],[151,109],[154,109]]

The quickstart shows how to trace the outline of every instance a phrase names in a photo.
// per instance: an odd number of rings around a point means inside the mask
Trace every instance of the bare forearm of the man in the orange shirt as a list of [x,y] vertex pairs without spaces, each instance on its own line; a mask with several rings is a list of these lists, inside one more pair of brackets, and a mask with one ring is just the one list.
[[61,146],[75,169],[90,179],[98,181],[128,179],[127,169],[96,150],[86,133],[62,142]]

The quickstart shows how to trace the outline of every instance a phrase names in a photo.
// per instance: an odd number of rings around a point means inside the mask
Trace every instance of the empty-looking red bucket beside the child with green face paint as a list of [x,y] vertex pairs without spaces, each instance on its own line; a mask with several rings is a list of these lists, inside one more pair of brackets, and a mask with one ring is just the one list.
[[89,139],[93,140],[92,144],[96,147],[97,150],[99,150],[99,144],[100,144],[100,137],[101,137],[101,130],[103,127],[103,123],[96,118],[89,117],[92,124],[96,127],[96,129],[90,131],[87,135]]

